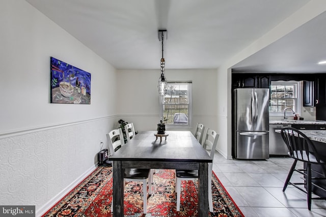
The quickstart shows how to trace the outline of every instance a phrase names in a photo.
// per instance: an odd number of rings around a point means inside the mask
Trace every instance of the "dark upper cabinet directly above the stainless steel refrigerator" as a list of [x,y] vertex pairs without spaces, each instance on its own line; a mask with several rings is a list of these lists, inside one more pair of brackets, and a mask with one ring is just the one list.
[[269,88],[268,75],[233,73],[232,88]]

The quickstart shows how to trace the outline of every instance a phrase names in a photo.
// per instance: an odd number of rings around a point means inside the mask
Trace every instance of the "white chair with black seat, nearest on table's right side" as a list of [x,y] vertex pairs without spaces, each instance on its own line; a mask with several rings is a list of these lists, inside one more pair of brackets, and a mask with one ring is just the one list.
[[[216,144],[218,144],[219,134],[215,131],[206,128],[203,132],[202,146],[205,147],[207,153],[214,158]],[[208,163],[208,204],[209,211],[213,212],[212,200],[212,169],[213,163]],[[176,191],[177,191],[177,211],[180,211],[180,196],[181,196],[181,181],[182,180],[198,180],[198,170],[176,170]]]

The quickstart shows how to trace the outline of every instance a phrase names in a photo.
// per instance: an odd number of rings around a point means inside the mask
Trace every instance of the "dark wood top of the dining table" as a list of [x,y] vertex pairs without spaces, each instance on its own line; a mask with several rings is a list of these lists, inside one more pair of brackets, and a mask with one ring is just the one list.
[[112,161],[165,161],[211,163],[204,148],[189,131],[166,131],[167,140],[156,139],[156,131],[142,131],[108,159]]

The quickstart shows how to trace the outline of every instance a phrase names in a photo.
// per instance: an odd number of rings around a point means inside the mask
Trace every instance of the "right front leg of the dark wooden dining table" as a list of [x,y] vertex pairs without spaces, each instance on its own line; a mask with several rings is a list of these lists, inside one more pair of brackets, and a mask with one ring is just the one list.
[[199,204],[198,216],[206,217],[208,215],[208,163],[199,163]]

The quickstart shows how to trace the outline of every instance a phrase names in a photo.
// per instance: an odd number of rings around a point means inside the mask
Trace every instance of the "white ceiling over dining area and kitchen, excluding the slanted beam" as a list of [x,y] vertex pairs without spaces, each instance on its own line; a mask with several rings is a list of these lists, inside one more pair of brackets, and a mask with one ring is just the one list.
[[[213,69],[248,47],[308,0],[26,0],[116,69]],[[276,16],[277,15],[277,16]],[[238,71],[323,70],[321,14],[244,59]],[[322,23],[322,25],[320,25]],[[317,67],[317,68],[316,68]],[[326,71],[326,70],[324,70]]]

